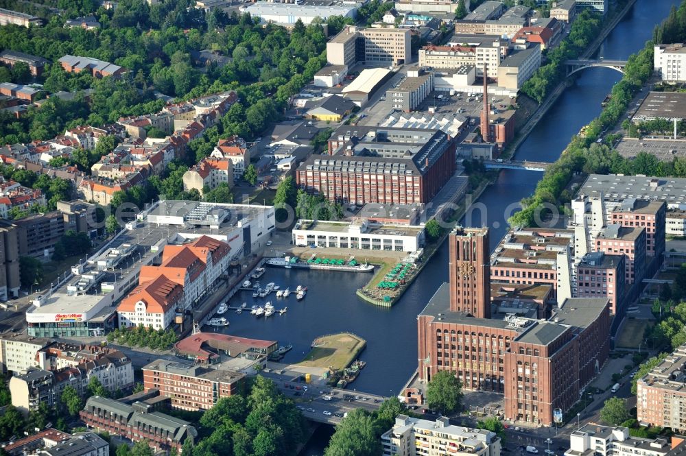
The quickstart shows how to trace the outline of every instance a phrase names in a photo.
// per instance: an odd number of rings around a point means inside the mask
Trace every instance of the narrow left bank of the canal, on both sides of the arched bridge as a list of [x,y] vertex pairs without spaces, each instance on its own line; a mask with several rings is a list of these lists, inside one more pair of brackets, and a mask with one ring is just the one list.
[[[598,38],[595,38],[593,40],[593,43],[591,43],[587,49],[579,56],[580,60],[584,60],[589,58],[590,56],[595,53],[595,51],[598,51],[600,49],[600,45],[602,45],[603,41],[607,38],[608,34],[617,27],[617,24],[619,21],[626,16],[626,13],[631,9],[633,5],[635,5],[637,0],[628,0],[626,5],[624,5],[624,8],[622,10],[619,10],[619,12],[611,13],[611,19],[606,19],[606,21],[609,21],[602,27],[602,32],[598,35]],[[543,116],[548,112],[550,108],[554,105],[555,101],[560,97],[560,95],[563,94],[565,89],[569,86],[569,80],[565,78],[560,84],[558,84],[551,93],[545,98],[543,103],[539,105],[539,108],[537,108],[533,115],[529,118],[527,123],[517,132],[517,135],[514,138],[514,141],[512,141],[502,152],[501,158],[504,159],[509,159],[513,158],[514,155],[517,153],[517,149],[519,149],[519,146],[528,138],[529,134],[534,130],[534,127],[541,121]]]

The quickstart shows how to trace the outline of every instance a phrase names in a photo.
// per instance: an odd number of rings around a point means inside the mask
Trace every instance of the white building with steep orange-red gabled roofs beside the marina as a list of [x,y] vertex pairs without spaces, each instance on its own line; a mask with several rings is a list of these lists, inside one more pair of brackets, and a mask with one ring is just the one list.
[[162,264],[142,266],[138,287],[119,303],[119,327],[169,327],[177,309],[191,309],[226,271],[229,251],[227,243],[204,235],[166,245]]

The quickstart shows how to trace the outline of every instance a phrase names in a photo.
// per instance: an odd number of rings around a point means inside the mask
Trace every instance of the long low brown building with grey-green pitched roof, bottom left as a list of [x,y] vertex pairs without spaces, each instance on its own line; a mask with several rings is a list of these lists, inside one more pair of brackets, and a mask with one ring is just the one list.
[[80,412],[87,427],[121,435],[133,442],[147,440],[156,449],[180,451],[186,440],[195,442],[198,431],[187,421],[153,411],[152,405],[134,402],[127,405],[118,400],[93,396]]

